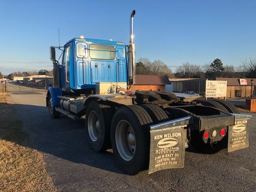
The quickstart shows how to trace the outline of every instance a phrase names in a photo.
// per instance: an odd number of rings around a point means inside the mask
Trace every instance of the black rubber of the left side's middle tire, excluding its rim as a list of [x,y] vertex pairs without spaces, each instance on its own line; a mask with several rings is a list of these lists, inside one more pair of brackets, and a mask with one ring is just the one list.
[[[88,130],[88,128],[90,127],[88,126],[88,118],[89,118],[90,112],[92,111],[94,111],[96,116],[98,117],[99,128],[98,128],[97,138],[94,138],[92,136],[92,132]],[[111,148],[110,126],[111,126],[111,120],[113,116],[112,114],[113,113],[110,106],[98,104],[97,102],[90,102],[88,107],[86,108],[86,116],[85,116],[86,136],[90,144],[90,147],[96,152],[104,151]]]

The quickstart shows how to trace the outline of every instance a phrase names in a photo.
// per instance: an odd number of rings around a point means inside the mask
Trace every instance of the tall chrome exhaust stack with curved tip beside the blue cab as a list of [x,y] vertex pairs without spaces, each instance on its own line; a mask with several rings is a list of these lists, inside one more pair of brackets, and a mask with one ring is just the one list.
[[132,89],[133,84],[135,84],[135,70],[136,70],[136,60],[135,60],[135,45],[133,44],[133,18],[135,15],[135,10],[132,11],[130,16],[130,44],[128,46],[128,84],[130,85],[128,90]]

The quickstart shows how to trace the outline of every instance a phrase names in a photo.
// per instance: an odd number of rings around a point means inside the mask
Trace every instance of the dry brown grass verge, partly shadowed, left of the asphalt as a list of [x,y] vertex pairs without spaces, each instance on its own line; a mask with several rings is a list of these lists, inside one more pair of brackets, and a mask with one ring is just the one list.
[[28,135],[7,96],[0,95],[0,191],[57,191],[43,154],[30,148]]

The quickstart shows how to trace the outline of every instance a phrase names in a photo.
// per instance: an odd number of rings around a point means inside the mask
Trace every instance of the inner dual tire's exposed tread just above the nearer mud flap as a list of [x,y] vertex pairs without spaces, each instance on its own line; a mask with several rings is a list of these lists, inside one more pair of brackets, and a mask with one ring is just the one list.
[[169,118],[164,110],[155,104],[142,104],[140,106],[146,110],[154,123],[163,122]]

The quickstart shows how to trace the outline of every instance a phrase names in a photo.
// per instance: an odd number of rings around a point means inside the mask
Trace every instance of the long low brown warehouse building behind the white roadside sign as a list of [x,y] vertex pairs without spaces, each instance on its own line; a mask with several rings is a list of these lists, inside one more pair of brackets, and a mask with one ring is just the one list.
[[[173,92],[194,91],[201,96],[205,96],[206,78],[189,79],[189,78],[173,78],[169,79],[173,84]],[[208,80],[227,81],[226,98],[250,97],[251,95],[251,80],[252,95],[256,95],[256,78],[214,78]]]

